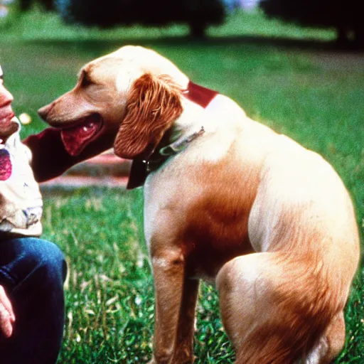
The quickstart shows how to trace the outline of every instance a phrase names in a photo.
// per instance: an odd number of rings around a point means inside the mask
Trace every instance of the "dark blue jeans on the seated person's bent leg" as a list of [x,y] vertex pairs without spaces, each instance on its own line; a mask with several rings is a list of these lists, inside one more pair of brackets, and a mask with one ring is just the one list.
[[0,336],[1,364],[54,364],[63,338],[67,266],[52,242],[0,240],[0,284],[14,309],[10,338]]

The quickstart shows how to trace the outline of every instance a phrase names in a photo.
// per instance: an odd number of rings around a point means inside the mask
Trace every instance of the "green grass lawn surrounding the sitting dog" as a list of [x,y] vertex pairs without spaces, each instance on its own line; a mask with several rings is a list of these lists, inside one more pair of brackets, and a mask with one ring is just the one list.
[[[208,41],[187,28],[63,26],[33,11],[0,21],[0,63],[17,114],[45,127],[36,110],[73,87],[82,64],[127,43],[154,48],[194,82],[236,100],[253,119],[288,134],[333,164],[364,232],[364,54],[333,49],[331,30],[302,30],[262,14],[235,14]],[[44,234],[69,263],[67,322],[59,363],[146,363],[154,298],[141,231],[141,191],[80,189],[45,195]],[[350,262],[348,262],[350,264]],[[347,343],[336,363],[364,363],[363,267],[346,309]],[[203,284],[196,363],[233,363],[215,289]]]

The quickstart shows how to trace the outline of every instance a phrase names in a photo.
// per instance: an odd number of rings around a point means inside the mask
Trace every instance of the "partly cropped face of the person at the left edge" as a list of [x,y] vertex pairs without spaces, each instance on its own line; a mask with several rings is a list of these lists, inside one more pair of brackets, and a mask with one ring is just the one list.
[[11,120],[15,116],[11,109],[13,100],[13,95],[4,86],[4,74],[0,66],[0,139],[2,139],[0,142],[4,142],[18,129],[18,124]]

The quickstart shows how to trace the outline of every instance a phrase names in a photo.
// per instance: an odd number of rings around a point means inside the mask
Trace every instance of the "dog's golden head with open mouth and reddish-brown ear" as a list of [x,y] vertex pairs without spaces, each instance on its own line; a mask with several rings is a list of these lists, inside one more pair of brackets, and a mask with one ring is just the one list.
[[113,133],[117,155],[146,158],[181,114],[181,90],[187,83],[166,58],[128,45],[87,63],[73,90],[38,112],[62,129],[65,148],[73,156]]

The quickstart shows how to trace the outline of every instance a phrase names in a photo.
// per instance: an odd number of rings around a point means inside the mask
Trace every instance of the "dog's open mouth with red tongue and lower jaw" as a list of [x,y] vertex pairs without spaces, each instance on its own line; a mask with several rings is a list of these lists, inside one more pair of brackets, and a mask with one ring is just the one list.
[[92,114],[73,123],[73,127],[62,129],[61,137],[66,151],[71,156],[77,156],[95,140],[102,130],[103,122],[100,114]]

